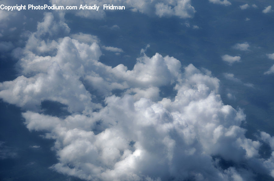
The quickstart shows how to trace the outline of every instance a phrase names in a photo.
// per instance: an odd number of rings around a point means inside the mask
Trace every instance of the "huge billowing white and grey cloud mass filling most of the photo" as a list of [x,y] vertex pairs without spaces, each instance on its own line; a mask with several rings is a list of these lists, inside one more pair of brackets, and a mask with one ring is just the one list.
[[[261,158],[262,142],[245,137],[243,111],[223,104],[220,81],[210,71],[144,51],[132,70],[122,64],[112,68],[99,61],[96,36],[70,35],[62,19],[44,15],[26,46],[12,52],[21,76],[0,83],[0,97],[26,110],[26,127],[55,140],[58,163],[52,169],[85,180],[274,176],[274,153]],[[170,85],[176,96],[161,97],[161,88]],[[67,105],[70,115],[42,114],[46,100]],[[272,145],[267,133],[261,137]],[[222,160],[234,165],[223,168]],[[239,169],[243,163],[246,167]]]

